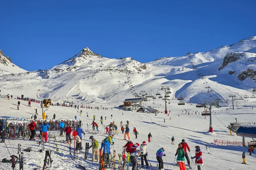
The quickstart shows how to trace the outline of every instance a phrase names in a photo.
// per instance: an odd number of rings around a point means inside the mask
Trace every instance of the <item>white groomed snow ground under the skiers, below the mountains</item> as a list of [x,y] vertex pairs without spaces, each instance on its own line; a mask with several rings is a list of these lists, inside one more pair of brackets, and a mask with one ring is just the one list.
[[[3,99],[0,98],[1,103],[1,112],[0,117],[6,118],[9,116],[13,117],[25,117],[30,118],[34,113],[34,109],[38,109],[38,118],[41,118],[40,113],[40,105],[38,103],[32,102],[32,107],[27,107],[27,101],[21,101],[20,110],[16,110],[17,99]],[[83,103],[85,104],[85,103]],[[86,109],[86,108],[79,108],[79,111],[82,110],[82,115],[77,115],[77,109],[75,108],[68,108],[62,106],[50,106],[49,110],[46,111],[46,114],[49,118],[52,118],[53,114],[56,114],[56,119],[74,119],[74,116],[78,116],[78,120],[82,121],[82,129],[86,130],[87,124],[90,125],[93,120],[93,115],[96,116],[96,122],[99,124],[99,130],[102,130],[102,125],[100,125],[100,116],[107,116],[107,120],[104,119],[104,125],[109,125],[110,122],[115,121],[115,124],[118,126],[119,133],[118,135],[114,136],[115,144],[114,149],[116,153],[122,152],[122,146],[125,145],[126,141],[122,140],[124,138],[123,134],[120,130],[120,122],[125,122],[129,120],[130,122],[130,137],[133,142],[142,143],[146,141],[148,146],[148,159],[153,166],[153,170],[156,170],[156,151],[160,147],[165,148],[166,159],[163,158],[164,161],[164,168],[165,169],[173,169],[178,170],[179,167],[173,167],[173,163],[175,161],[175,152],[177,149],[177,144],[181,142],[182,139],[185,139],[188,143],[191,155],[195,155],[195,146],[200,146],[203,152],[203,162],[204,166],[201,169],[204,170],[256,170],[255,167],[255,153],[253,156],[249,156],[246,147],[241,146],[218,146],[213,144],[214,139],[219,140],[229,140],[229,141],[238,141],[241,142],[242,138],[240,136],[230,136],[229,130],[227,129],[227,125],[230,122],[235,122],[233,117],[237,118],[240,122],[252,122],[252,117],[255,117],[255,104],[253,102],[239,102],[238,106],[235,106],[235,110],[229,109],[226,111],[226,108],[212,108],[212,126],[214,133],[209,133],[209,116],[204,119],[204,116],[195,115],[195,111],[202,112],[203,108],[195,108],[195,104],[186,104],[186,105],[177,105],[177,102],[173,100],[170,104],[167,105],[168,110],[171,111],[170,115],[159,113],[157,116],[154,114],[149,113],[138,113],[138,112],[131,112],[131,111],[120,111],[118,108],[114,108],[114,106],[120,104],[120,102],[113,102],[110,104],[95,104],[91,103],[90,106],[93,109]],[[253,108],[250,107],[242,107],[243,105],[248,104]],[[79,102],[79,105],[81,103]],[[86,104],[85,104],[86,105]],[[108,110],[101,109],[102,107],[108,107]],[[163,111],[163,102],[160,100],[155,101],[155,104],[152,104],[152,101],[145,102],[144,105],[154,107],[159,111]],[[95,107],[99,107],[100,109],[97,110]],[[111,109],[113,108],[113,110]],[[190,112],[188,115],[185,112]],[[193,113],[194,111],[194,113]],[[89,118],[87,118],[86,113],[89,114]],[[122,115],[123,113],[123,115]],[[193,113],[193,114],[191,114]],[[111,119],[111,114],[113,115],[113,119]],[[233,116],[230,116],[230,114]],[[169,119],[171,117],[171,120]],[[223,125],[218,119],[225,125]],[[166,122],[164,122],[164,119]],[[9,123],[12,121],[8,121]],[[14,121],[16,122],[16,121]],[[23,122],[23,121],[21,121]],[[139,135],[138,139],[135,139],[135,135],[133,134],[132,130],[133,127],[136,127]],[[89,127],[91,129],[91,127]],[[152,139],[151,143],[147,142],[147,135],[151,132]],[[39,132],[37,132],[39,133]],[[51,135],[58,135],[58,131],[51,131]],[[85,136],[82,139],[82,147],[84,147],[85,142],[90,142],[89,136],[90,133],[85,132]],[[94,138],[101,143],[103,139],[107,136],[104,133],[93,134]],[[175,137],[175,144],[171,144],[172,136]],[[60,137],[57,136],[57,140]],[[38,140],[38,139],[37,139]],[[250,142],[250,138],[246,138],[246,141]],[[10,143],[9,143],[10,142]],[[36,141],[29,141],[29,140],[8,140],[6,139],[6,145],[13,154],[17,155],[17,144],[22,144],[22,151],[27,147],[32,147],[31,152],[24,152],[24,156],[26,157],[26,161],[24,164],[24,170],[32,170],[38,166],[43,166],[44,164],[44,156],[45,152],[39,153],[38,150],[41,149],[41,146],[36,144]],[[79,159],[72,160],[73,155],[69,155],[69,149],[65,143],[58,142],[58,147],[60,148],[60,154],[56,154],[56,147],[53,142],[53,138],[50,139],[51,150],[54,150],[51,157],[53,159],[51,170],[72,170],[72,169],[79,169],[78,164],[82,164],[86,167],[87,170],[96,170],[99,169],[99,163],[92,163],[92,155],[91,149],[89,150],[89,157],[88,160],[84,161],[83,157],[84,154],[78,154]],[[208,144],[212,155],[204,153],[205,145]],[[11,148],[12,146],[12,148]],[[0,143],[0,160],[4,158],[9,158],[9,152],[4,143]],[[73,144],[71,144],[73,150]],[[49,143],[45,144],[46,150],[49,148]],[[63,151],[63,153],[61,153]],[[246,162],[247,165],[241,164],[242,162],[242,152],[246,152]],[[73,152],[72,152],[73,153]],[[190,155],[189,155],[190,157]],[[187,167],[187,163],[186,167]],[[192,164],[192,163],[191,163]],[[17,165],[18,166],[18,165]],[[192,164],[194,166],[194,164]],[[11,170],[10,163],[2,163],[0,162],[0,169],[1,170]],[[39,168],[42,169],[42,168]],[[131,169],[131,168],[130,168]]]

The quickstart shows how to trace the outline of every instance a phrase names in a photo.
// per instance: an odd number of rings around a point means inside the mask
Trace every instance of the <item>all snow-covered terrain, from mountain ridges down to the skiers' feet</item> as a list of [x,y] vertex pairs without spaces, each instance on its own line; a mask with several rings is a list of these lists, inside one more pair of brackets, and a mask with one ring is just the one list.
[[[74,105],[79,105],[81,115],[75,108],[62,106],[50,106],[45,113],[49,119],[52,119],[55,113],[58,120],[74,120],[77,116],[77,120],[82,121],[82,129],[85,131],[85,135],[82,136],[82,147],[85,146],[85,142],[91,142],[89,139],[92,135],[91,123],[95,115],[99,132],[93,136],[99,144],[107,136],[104,133],[105,126],[110,122],[116,122],[119,130],[119,133],[114,136],[113,147],[116,153],[122,153],[122,146],[126,144],[120,130],[120,122],[122,121],[125,125],[129,120],[131,141],[139,144],[143,141],[147,143],[148,159],[152,170],[157,170],[156,152],[161,147],[165,148],[164,153],[166,153],[166,157],[163,157],[164,169],[179,169],[174,162],[177,144],[182,139],[189,144],[191,156],[195,156],[195,146],[201,147],[204,162],[202,170],[256,170],[255,153],[249,156],[246,147],[226,146],[225,144],[225,141],[242,142],[241,136],[236,136],[235,133],[231,136],[227,128],[230,122],[236,122],[235,118],[239,122],[255,122],[256,104],[254,102],[256,99],[251,98],[254,96],[252,90],[256,87],[255,59],[256,37],[207,52],[180,57],[164,57],[148,63],[140,63],[130,57],[109,59],[95,54],[89,48],[84,48],[74,57],[44,71],[23,70],[0,52],[0,90],[3,96],[0,98],[0,119],[27,118],[27,120],[20,121],[8,120],[9,123],[12,122],[15,125],[28,122],[37,109],[38,119],[42,120],[40,103],[32,102],[31,107],[28,107],[27,101],[6,99],[4,95],[7,94],[13,95],[14,98],[22,94],[24,97],[38,100],[50,98],[54,104],[68,100],[73,101]],[[148,95],[153,96],[159,92],[163,96],[161,86],[169,86],[172,92],[167,102],[169,115],[161,113],[164,112],[165,105],[164,101],[158,99],[157,96],[157,99],[148,98],[148,101],[143,102],[143,106],[159,110],[160,113],[157,116],[152,113],[119,109],[118,106],[123,104],[124,99],[133,98],[135,92],[139,94],[140,91],[146,91]],[[227,100],[230,94],[235,94],[238,99],[234,102],[234,110],[231,108],[230,99]],[[177,105],[177,98],[180,96],[184,98],[185,105]],[[244,96],[249,96],[249,98],[244,98]],[[221,107],[213,106],[212,108],[213,133],[209,133],[209,116],[201,116],[204,108],[195,106],[196,103],[213,99],[220,99]],[[17,110],[18,101],[21,102],[19,110]],[[93,109],[80,108],[82,104]],[[99,110],[95,107],[99,107]],[[103,110],[103,107],[108,110]],[[195,114],[195,112],[200,114]],[[112,119],[111,115],[113,115]],[[103,125],[100,123],[100,116],[107,117],[106,120],[103,119]],[[132,132],[133,127],[136,127],[139,133],[137,139]],[[148,142],[150,132],[151,143]],[[71,144],[72,155],[69,155],[68,145],[58,142],[60,149],[58,155],[52,136],[57,135],[57,141],[64,137],[58,136],[58,131],[50,131],[50,134],[51,138],[45,144],[45,149],[48,150],[50,147],[53,150],[51,170],[79,170],[78,164],[83,165],[87,170],[99,169],[99,163],[91,162],[91,149],[88,160],[83,160],[84,150],[82,154],[76,154],[78,159],[74,160],[72,159],[74,144]],[[175,138],[175,144],[171,144],[172,136]],[[214,139],[223,140],[223,146],[221,143],[214,144]],[[246,142],[251,140],[251,138],[246,138]],[[9,159],[9,156],[13,154],[18,156],[17,145],[21,144],[22,151],[27,147],[32,147],[31,152],[24,151],[26,157],[24,170],[35,170],[35,168],[41,170],[45,152],[38,152],[41,145],[38,146],[36,142],[39,142],[39,138],[36,141],[22,138],[6,139],[6,143],[0,143],[0,160]],[[207,154],[206,144],[209,145],[212,154]],[[246,152],[247,165],[241,164],[243,151]],[[117,157],[116,160],[118,160]],[[185,164],[188,167],[187,162]],[[194,170],[195,164],[191,163],[191,165]],[[0,170],[11,169],[10,163],[0,161]],[[18,163],[16,169],[18,169]]]

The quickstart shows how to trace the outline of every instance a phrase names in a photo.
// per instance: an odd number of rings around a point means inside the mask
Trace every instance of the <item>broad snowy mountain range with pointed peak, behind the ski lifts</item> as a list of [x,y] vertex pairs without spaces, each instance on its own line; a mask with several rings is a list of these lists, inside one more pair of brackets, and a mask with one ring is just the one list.
[[170,99],[182,96],[194,103],[219,99],[225,105],[229,94],[243,98],[245,94],[253,95],[252,88],[256,87],[256,37],[207,52],[164,57],[148,63],[131,57],[102,57],[86,47],[59,65],[28,73],[20,68],[11,72],[11,62],[2,56],[1,61],[7,63],[7,68],[1,66],[3,72],[17,75],[0,77],[0,87],[6,89],[5,93],[38,99],[120,100],[121,104],[123,99],[134,97],[135,92],[154,95],[165,85],[172,91]]

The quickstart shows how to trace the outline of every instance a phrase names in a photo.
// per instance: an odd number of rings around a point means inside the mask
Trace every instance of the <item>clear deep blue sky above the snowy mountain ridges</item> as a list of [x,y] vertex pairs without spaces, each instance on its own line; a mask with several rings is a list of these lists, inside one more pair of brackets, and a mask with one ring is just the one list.
[[0,6],[0,49],[28,71],[84,47],[149,62],[256,36],[255,0],[2,0]]

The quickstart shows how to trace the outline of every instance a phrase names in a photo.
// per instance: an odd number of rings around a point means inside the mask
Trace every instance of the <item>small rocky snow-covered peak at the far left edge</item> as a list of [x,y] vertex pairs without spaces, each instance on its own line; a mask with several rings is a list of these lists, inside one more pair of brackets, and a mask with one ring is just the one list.
[[27,72],[17,65],[12,63],[10,57],[5,57],[3,52],[0,50],[0,76],[4,74],[15,74]]

